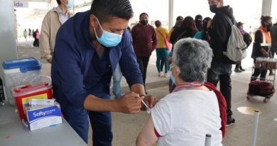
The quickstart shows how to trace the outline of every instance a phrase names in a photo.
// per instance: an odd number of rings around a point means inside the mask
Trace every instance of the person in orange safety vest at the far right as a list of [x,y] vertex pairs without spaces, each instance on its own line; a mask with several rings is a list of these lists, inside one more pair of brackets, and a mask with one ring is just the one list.
[[[268,50],[271,46],[271,34],[269,33],[272,27],[271,16],[261,16],[261,26],[255,33],[255,39],[253,43],[253,50],[251,53],[251,58],[254,59],[256,63],[256,58],[258,57],[272,57],[271,52]],[[253,75],[251,75],[251,81],[256,80],[260,75],[260,80],[266,79],[267,70],[261,68],[255,68]]]

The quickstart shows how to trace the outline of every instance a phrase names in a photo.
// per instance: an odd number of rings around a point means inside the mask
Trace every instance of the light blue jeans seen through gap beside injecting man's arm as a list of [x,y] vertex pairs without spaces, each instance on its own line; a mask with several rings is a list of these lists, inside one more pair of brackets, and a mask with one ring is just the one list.
[[112,79],[114,80],[112,92],[114,93],[114,96],[116,99],[121,97],[121,87],[120,87],[121,77],[122,77],[122,73],[120,70],[119,63],[117,63],[116,69],[115,69],[114,73],[112,74]]

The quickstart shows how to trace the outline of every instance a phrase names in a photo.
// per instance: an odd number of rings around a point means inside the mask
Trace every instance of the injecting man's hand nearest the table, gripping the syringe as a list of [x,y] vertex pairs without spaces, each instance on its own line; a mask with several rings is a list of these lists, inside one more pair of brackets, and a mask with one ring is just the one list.
[[130,92],[123,95],[121,98],[116,100],[119,106],[119,112],[121,113],[139,113],[141,111],[141,100],[139,94]]

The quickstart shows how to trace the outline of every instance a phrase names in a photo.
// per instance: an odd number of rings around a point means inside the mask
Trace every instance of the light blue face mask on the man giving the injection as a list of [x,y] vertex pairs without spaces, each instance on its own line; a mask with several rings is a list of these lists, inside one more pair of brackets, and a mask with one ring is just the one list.
[[97,19],[97,22],[103,31],[102,36],[98,37],[94,28],[94,33],[97,38],[97,41],[99,41],[99,43],[101,43],[103,46],[106,46],[106,47],[117,46],[121,42],[122,34],[110,33],[109,31],[104,31],[98,19]]

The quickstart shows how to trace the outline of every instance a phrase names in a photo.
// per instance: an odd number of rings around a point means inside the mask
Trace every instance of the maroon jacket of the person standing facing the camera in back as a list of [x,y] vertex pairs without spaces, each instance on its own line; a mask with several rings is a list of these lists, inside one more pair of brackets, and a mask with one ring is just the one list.
[[147,24],[143,26],[136,24],[131,30],[134,51],[137,57],[149,57],[157,46],[155,28]]

